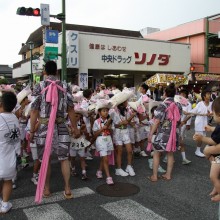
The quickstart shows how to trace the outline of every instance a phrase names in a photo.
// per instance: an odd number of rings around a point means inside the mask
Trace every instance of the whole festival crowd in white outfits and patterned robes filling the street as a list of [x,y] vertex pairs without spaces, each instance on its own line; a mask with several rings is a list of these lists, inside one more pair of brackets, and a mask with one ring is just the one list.
[[[61,163],[65,199],[73,198],[70,176],[77,175],[77,162],[84,181],[88,179],[86,160],[95,156],[100,164],[94,176],[108,185],[114,184],[114,175],[135,176],[134,155],[149,157],[152,175],[148,181],[171,180],[174,152],[181,151],[183,165],[191,163],[186,158],[184,138],[192,117],[195,117],[195,155],[210,161],[211,201],[220,201],[217,87],[203,87],[200,94],[176,88],[173,83],[159,86],[154,92],[145,83],[138,92],[127,87],[122,91],[115,86],[106,88],[104,84],[95,90],[82,91],[79,86],[59,81],[56,75],[56,63],[48,61],[44,81],[33,90],[26,86],[16,92],[11,85],[1,85],[0,213],[12,208],[9,199],[16,188],[17,172],[25,169],[30,160],[34,163],[30,181],[36,185],[35,202],[52,196],[52,153]],[[210,125],[212,122],[215,126]],[[211,137],[206,136],[207,131]],[[206,147],[202,152],[203,143]],[[160,166],[164,153],[166,170]],[[109,165],[114,165],[114,174],[110,173]]]

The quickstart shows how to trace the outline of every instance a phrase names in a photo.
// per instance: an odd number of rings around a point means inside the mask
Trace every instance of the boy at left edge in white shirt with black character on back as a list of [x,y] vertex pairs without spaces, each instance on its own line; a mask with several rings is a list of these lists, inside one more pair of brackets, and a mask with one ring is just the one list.
[[12,92],[5,92],[0,98],[0,213],[12,208],[9,198],[12,179],[16,176],[16,154],[21,153],[19,122],[11,113],[16,103],[16,95]]

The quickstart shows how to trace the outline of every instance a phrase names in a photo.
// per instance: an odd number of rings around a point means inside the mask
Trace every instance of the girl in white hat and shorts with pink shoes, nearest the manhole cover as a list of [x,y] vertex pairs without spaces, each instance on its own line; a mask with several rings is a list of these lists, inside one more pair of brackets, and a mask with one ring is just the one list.
[[[97,101],[96,111],[99,114],[99,118],[95,120],[93,125],[93,132],[96,139],[96,151],[101,157],[100,167],[96,173],[98,179],[103,178],[102,170],[104,169],[106,174],[106,183],[108,185],[114,184],[109,172],[109,160],[108,156],[114,151],[112,138],[111,138],[111,118],[109,117],[109,109],[112,104],[107,100]],[[113,155],[114,156],[114,155]]]

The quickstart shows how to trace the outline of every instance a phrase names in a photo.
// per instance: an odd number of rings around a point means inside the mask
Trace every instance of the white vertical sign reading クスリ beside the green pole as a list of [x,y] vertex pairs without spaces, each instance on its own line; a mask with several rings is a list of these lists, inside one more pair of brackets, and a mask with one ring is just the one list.
[[67,68],[79,68],[79,32],[66,31]]

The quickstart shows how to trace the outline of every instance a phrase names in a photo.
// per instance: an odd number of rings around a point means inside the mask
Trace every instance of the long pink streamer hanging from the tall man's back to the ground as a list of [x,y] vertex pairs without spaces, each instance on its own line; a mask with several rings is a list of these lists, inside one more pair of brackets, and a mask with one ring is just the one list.
[[46,102],[51,103],[51,114],[50,114],[49,123],[48,123],[44,155],[43,155],[43,159],[41,163],[41,169],[40,169],[37,190],[36,190],[36,195],[35,195],[35,202],[37,203],[41,203],[42,201],[42,196],[43,196],[43,191],[44,191],[44,186],[45,186],[45,181],[46,181],[47,168],[48,168],[48,163],[49,163],[49,158],[50,158],[50,153],[51,153],[54,126],[55,126],[55,120],[56,120],[56,114],[57,114],[58,89],[63,92],[66,92],[65,89],[57,85],[57,82],[59,82],[58,80],[56,81],[47,80],[47,81],[50,82],[50,85],[44,88],[41,93],[44,93],[46,92],[46,90],[48,90],[47,95],[46,95]]

